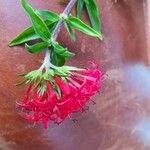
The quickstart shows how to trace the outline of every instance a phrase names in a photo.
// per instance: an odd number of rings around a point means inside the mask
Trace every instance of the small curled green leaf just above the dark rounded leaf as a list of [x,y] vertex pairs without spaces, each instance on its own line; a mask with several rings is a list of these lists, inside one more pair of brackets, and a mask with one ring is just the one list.
[[52,43],[52,48],[53,48],[55,53],[57,53],[58,55],[60,55],[62,57],[72,57],[72,56],[74,56],[74,53],[68,51],[67,48],[62,47],[57,42]]

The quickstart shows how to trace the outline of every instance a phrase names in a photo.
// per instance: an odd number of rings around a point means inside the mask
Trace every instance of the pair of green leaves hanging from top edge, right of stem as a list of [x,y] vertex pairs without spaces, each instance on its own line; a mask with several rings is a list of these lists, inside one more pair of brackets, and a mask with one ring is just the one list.
[[95,29],[97,32],[100,33],[101,32],[101,23],[99,19],[100,15],[94,0],[78,0],[77,17],[80,18],[84,5],[86,7],[93,29]]

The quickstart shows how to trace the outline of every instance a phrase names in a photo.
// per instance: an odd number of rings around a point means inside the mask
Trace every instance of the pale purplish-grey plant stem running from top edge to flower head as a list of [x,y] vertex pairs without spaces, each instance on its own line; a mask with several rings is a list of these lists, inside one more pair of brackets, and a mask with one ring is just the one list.
[[[61,27],[63,25],[63,22],[64,22],[64,18],[66,18],[69,15],[69,13],[71,12],[71,10],[72,10],[72,8],[73,8],[73,6],[75,5],[76,2],[77,2],[77,0],[70,0],[68,5],[66,6],[65,10],[61,14],[60,20],[58,21],[58,23],[57,23],[57,25],[56,25],[53,33],[52,33],[52,37],[51,37],[52,40],[55,41],[57,39],[58,34],[59,34],[59,32],[61,30]],[[47,49],[46,53],[45,53],[44,62],[42,64],[42,66],[41,66],[41,69],[43,67],[48,68],[50,66],[51,66],[51,63],[50,63],[50,51]]]

